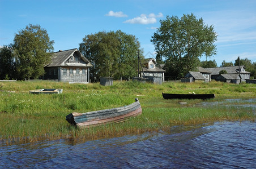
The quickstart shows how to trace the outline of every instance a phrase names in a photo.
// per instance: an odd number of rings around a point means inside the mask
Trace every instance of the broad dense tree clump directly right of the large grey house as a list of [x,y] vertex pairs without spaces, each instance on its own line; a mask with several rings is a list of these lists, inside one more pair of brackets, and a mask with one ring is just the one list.
[[117,30],[86,35],[79,44],[79,51],[93,65],[91,79],[101,76],[128,79],[136,75],[139,47],[134,35]]

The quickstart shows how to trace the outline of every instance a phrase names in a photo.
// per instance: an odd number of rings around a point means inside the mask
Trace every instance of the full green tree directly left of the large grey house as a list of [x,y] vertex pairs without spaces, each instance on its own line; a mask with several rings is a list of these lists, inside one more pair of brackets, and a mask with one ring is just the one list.
[[44,75],[44,65],[50,61],[53,43],[40,25],[29,24],[15,34],[13,46],[19,79],[36,79]]

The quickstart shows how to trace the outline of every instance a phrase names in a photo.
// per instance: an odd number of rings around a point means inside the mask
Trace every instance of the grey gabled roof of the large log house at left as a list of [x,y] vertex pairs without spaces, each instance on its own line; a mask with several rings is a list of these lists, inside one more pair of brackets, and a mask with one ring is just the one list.
[[[74,55],[74,53],[80,55],[80,58],[86,63],[65,63],[70,56]],[[92,66],[86,57],[84,57],[77,48],[73,48],[71,50],[58,51],[52,53],[52,62],[45,67],[57,67],[57,66]]]

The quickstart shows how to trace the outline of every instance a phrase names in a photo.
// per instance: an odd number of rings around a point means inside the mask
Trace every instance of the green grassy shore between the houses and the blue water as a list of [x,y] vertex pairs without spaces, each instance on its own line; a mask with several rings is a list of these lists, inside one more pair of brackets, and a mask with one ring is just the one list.
[[[1,87],[2,86],[2,87]],[[63,88],[59,95],[32,95],[29,90]],[[161,92],[188,94],[215,94],[211,101],[241,99],[229,104],[245,104],[256,98],[255,84],[221,82],[179,83],[161,85],[114,81],[113,86],[99,83],[69,84],[61,82],[0,82],[0,140],[2,143],[27,143],[42,139],[91,140],[126,134],[140,134],[164,130],[170,126],[199,124],[215,121],[255,120],[255,110],[245,106],[196,106],[202,100],[164,100]],[[72,112],[116,108],[134,102],[138,97],[142,115],[117,124],[80,130],[70,126],[65,116]]]

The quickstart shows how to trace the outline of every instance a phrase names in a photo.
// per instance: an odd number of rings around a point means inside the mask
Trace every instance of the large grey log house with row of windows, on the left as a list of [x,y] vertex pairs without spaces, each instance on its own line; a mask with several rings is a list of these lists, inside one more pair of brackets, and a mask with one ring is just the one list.
[[52,53],[52,61],[45,65],[43,79],[59,82],[89,83],[89,68],[92,64],[78,49],[58,51]]

